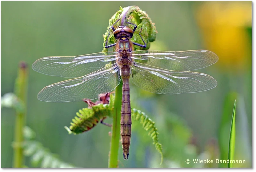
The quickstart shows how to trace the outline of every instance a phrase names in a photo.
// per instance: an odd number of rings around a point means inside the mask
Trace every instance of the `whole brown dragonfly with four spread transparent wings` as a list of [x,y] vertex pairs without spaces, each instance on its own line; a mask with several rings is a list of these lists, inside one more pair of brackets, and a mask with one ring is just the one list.
[[[121,20],[121,21],[120,21]],[[115,29],[115,24],[120,25]],[[127,26],[130,25],[133,27]],[[107,45],[113,30],[116,43]],[[113,91],[122,79],[121,143],[123,157],[128,159],[131,140],[131,106],[129,80],[146,91],[157,94],[180,94],[206,91],[217,86],[217,81],[204,73],[192,72],[210,66],[218,56],[208,50],[157,51],[133,50],[144,44],[132,42],[137,25],[120,18],[109,28],[105,48],[115,51],[79,56],[50,56],[36,60],[32,68],[40,73],[70,78],[44,87],[38,99],[47,102],[83,101],[99,98]]]

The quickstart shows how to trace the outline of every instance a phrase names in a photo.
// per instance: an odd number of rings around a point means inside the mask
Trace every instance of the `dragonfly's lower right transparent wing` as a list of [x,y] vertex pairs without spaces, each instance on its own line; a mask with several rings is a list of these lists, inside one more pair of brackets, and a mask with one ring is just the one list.
[[147,64],[136,63],[132,68],[132,82],[152,93],[179,94],[212,89],[217,81],[209,75],[189,71],[171,71],[150,68]]

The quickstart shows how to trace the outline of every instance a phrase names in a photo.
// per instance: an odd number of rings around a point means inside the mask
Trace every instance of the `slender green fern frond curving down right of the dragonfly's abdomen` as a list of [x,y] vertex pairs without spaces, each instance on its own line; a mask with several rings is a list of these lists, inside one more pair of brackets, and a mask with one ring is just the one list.
[[142,124],[143,129],[148,132],[148,135],[152,138],[153,144],[156,146],[156,150],[160,153],[161,155],[161,163],[163,162],[163,149],[162,145],[158,141],[158,132],[157,128],[155,126],[155,122],[152,121],[144,112],[141,112],[140,110],[137,109],[131,109],[132,110],[132,119],[139,121],[140,124]]

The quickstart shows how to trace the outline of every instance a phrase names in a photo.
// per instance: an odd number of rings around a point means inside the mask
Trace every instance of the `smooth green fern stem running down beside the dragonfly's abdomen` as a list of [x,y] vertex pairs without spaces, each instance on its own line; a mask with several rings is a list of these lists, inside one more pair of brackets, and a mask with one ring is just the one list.
[[122,85],[121,80],[120,84],[116,87],[115,90],[115,101],[114,101],[114,110],[113,110],[113,122],[112,122],[112,137],[110,144],[110,154],[108,160],[109,168],[118,167],[118,150],[119,150],[119,140],[120,140],[120,128],[121,128],[121,106],[122,106]]

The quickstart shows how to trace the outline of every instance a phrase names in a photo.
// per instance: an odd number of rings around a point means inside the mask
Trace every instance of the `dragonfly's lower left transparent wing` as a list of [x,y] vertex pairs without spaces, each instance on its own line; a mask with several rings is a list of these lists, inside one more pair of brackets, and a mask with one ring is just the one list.
[[120,83],[120,70],[117,64],[109,65],[83,77],[69,79],[46,86],[38,93],[38,99],[48,102],[83,101],[96,99],[108,93]]

